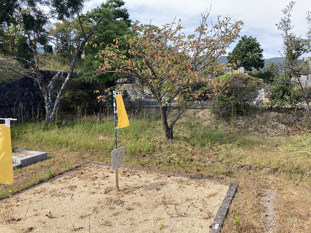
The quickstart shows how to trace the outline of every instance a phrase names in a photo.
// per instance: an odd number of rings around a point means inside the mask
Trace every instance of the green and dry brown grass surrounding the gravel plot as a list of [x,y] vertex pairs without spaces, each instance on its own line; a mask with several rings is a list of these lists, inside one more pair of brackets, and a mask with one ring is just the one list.
[[[126,167],[238,182],[223,233],[271,230],[266,215],[272,213],[263,202],[272,193],[277,232],[310,232],[311,136],[307,128],[285,122],[291,114],[260,112],[224,122],[208,111],[191,111],[177,121],[174,139],[166,140],[158,113],[145,111],[130,114],[130,126],[118,130],[118,145],[125,146]],[[1,185],[0,198],[89,162],[111,164],[112,116],[75,118],[68,126],[12,125],[14,148],[47,151],[49,159],[15,170],[15,183]]]

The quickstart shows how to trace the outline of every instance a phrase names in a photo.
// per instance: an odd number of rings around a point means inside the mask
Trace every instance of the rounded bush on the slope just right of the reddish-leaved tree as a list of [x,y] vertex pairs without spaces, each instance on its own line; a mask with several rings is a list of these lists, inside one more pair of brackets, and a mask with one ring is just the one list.
[[213,112],[224,119],[236,112],[247,113],[262,85],[261,79],[242,73],[222,75],[216,82],[227,83],[225,91],[217,95],[217,100],[212,103]]

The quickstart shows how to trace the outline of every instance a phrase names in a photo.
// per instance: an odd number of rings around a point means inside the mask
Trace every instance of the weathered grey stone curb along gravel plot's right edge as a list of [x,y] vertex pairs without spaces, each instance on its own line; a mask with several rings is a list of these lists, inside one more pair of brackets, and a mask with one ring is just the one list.
[[225,199],[223,200],[217,211],[216,216],[214,217],[214,223],[211,225],[209,233],[219,233],[222,229],[225,222],[225,217],[227,216],[229,211],[230,204],[234,198],[235,193],[238,190],[238,185],[239,184],[236,182],[230,184]]

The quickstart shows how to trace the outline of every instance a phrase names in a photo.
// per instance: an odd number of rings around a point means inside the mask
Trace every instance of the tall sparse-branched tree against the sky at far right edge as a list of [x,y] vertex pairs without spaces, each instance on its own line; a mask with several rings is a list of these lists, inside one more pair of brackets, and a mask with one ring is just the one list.
[[[284,17],[281,18],[281,21],[276,24],[277,29],[282,31],[283,37],[283,53],[281,55],[285,58],[284,64],[281,64],[283,69],[283,82],[286,83],[289,96],[296,95],[297,88],[300,88],[301,99],[307,104],[308,114],[310,114],[310,100],[308,98],[308,90],[306,86],[301,83],[301,75],[310,74],[310,66],[308,62],[305,62],[303,58],[304,54],[311,52],[311,17],[310,12],[307,13],[307,21],[309,23],[309,32],[306,34],[306,38],[301,36],[296,36],[294,33],[291,33],[293,29],[291,13],[294,8],[294,1],[291,1],[289,5],[282,10]],[[283,85],[284,85],[283,84]],[[277,89],[276,89],[277,90]],[[280,96],[274,93],[272,89],[271,97],[279,98]],[[288,93],[287,92],[287,93]],[[272,98],[274,100],[274,98]],[[278,101],[278,100],[275,100]]]

